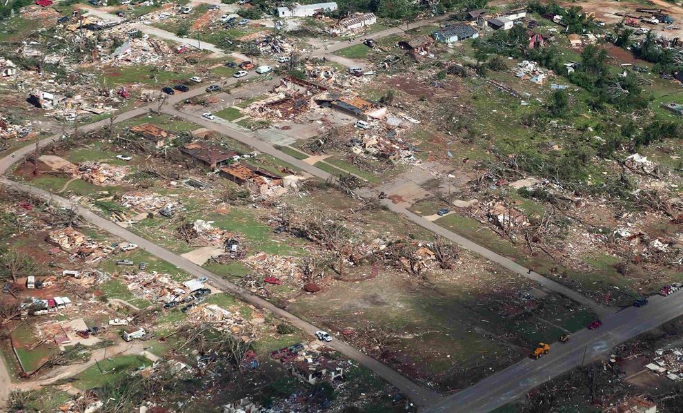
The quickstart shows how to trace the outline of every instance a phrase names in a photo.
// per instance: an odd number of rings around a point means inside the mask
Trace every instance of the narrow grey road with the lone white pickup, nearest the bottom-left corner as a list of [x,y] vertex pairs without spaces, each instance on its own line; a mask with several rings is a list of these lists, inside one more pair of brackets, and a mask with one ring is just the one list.
[[[18,182],[12,182],[5,177],[1,178],[1,182],[9,186],[10,188],[14,188],[23,192],[32,191],[34,195],[41,196],[46,200],[52,200],[52,202],[60,204],[63,207],[70,207],[71,202],[69,200],[61,198],[54,194],[50,194],[48,191],[37,189],[35,187],[31,188],[28,185],[19,184]],[[263,298],[259,298],[258,296],[251,294],[250,291],[247,291],[246,289],[243,289],[235,284],[232,284],[232,282],[224,280],[224,278],[216,276],[214,273],[190,262],[190,260],[182,258],[181,256],[177,256],[175,253],[172,253],[167,249],[159,247],[159,245],[155,244],[154,242],[137,236],[134,233],[128,231],[127,229],[119,227],[119,225],[115,224],[114,222],[101,218],[99,215],[92,213],[88,209],[81,209],[80,213],[83,219],[95,225],[95,227],[103,229],[104,231],[107,231],[123,240],[126,240],[127,242],[137,244],[140,248],[145,249],[152,255],[157,256],[161,258],[161,260],[164,260],[166,262],[170,262],[170,264],[175,265],[179,269],[187,271],[188,273],[192,274],[192,276],[195,276],[197,278],[208,278],[210,280],[210,283],[212,285],[215,285],[219,289],[226,291],[232,294],[233,296],[239,298],[240,300],[243,300],[244,302],[248,302],[251,305],[254,305],[257,308],[268,309],[268,311],[273,312],[273,314],[275,314],[279,318],[288,320],[289,323],[295,325],[295,327],[299,329],[304,330],[304,332],[307,332],[308,334],[313,335],[315,332],[317,332],[317,330],[319,330],[319,328],[315,327],[315,325],[307,323],[306,321],[301,320],[301,318],[288,313],[284,309],[276,307],[275,305],[264,300]],[[399,374],[390,367],[387,367],[386,365],[379,363],[379,361],[376,361],[374,358],[368,356],[367,354],[359,352],[357,349],[342,342],[341,340],[333,340],[331,343],[328,343],[328,346],[332,347],[333,349],[336,349],[338,352],[344,354],[344,356],[351,358],[357,363],[360,363],[365,367],[368,367],[368,369],[372,370],[373,372],[377,373],[379,376],[388,381],[388,383],[391,383],[392,385],[397,387],[397,389],[399,389],[401,392],[406,394],[406,396],[408,396],[416,405],[426,406],[430,403],[433,403],[434,399],[439,397],[439,395],[436,392],[427,390],[424,387],[416,385],[415,383],[410,381],[409,378],[406,378],[405,376]]]

